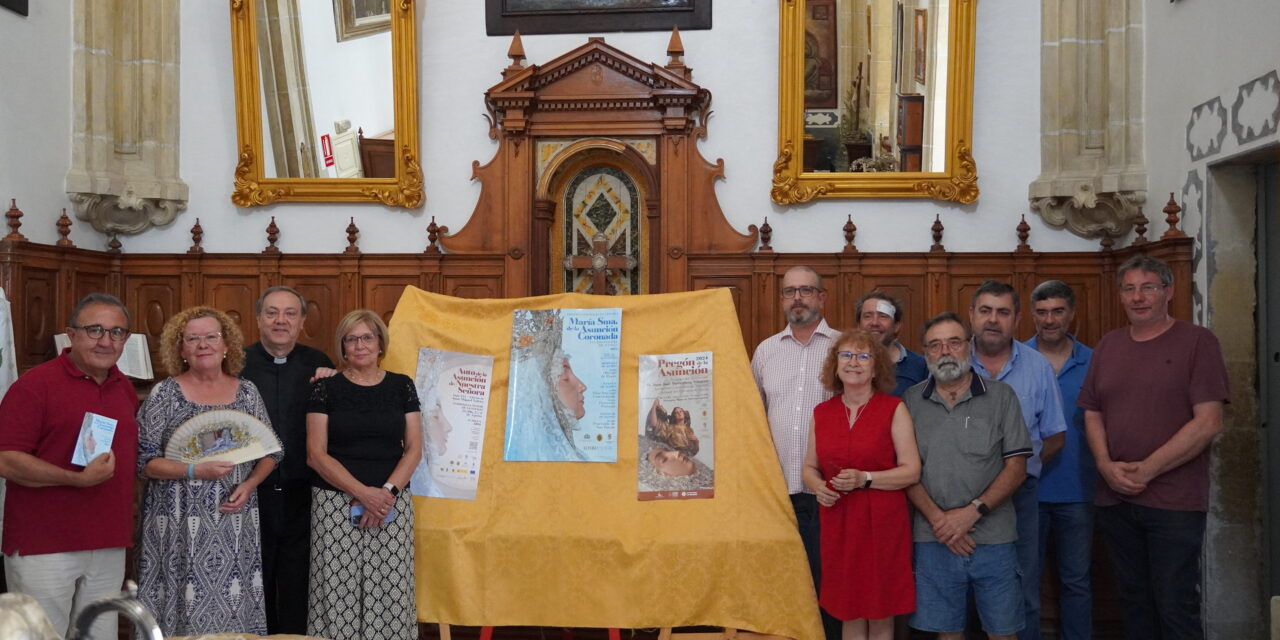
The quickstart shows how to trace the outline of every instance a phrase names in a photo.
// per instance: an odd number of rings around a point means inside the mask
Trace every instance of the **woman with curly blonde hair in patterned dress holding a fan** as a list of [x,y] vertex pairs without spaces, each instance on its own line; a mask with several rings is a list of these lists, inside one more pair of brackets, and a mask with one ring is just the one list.
[[179,311],[160,335],[169,378],[138,412],[138,472],[146,479],[138,596],[169,635],[266,634],[256,489],[283,452],[239,465],[164,457],[174,430],[206,411],[243,411],[270,425],[257,388],[237,378],[243,346],[227,314]]

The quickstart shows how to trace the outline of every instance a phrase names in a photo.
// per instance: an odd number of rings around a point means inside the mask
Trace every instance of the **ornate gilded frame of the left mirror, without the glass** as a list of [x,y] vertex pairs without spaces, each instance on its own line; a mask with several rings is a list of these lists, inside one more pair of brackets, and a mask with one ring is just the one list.
[[274,202],[381,202],[422,206],[417,122],[417,20],[413,0],[392,3],[392,74],[396,116],[396,178],[268,178],[262,165],[262,100],[255,0],[230,0],[236,76],[236,206]]

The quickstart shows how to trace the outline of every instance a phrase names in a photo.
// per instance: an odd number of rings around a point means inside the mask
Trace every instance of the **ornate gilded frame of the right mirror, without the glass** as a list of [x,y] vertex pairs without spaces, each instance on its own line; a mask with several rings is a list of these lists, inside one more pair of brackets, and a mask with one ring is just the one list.
[[780,205],[814,198],[978,200],[973,161],[973,70],[977,0],[951,0],[947,86],[947,161],[941,172],[805,172],[804,141],[805,0],[778,0],[778,157],[773,163],[772,200]]

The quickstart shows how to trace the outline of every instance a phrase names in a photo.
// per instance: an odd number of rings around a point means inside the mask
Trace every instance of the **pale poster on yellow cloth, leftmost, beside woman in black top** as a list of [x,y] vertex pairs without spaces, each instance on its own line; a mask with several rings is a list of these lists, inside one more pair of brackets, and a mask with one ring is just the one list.
[[493,356],[424,347],[413,383],[422,406],[422,460],[410,490],[426,498],[476,499]]

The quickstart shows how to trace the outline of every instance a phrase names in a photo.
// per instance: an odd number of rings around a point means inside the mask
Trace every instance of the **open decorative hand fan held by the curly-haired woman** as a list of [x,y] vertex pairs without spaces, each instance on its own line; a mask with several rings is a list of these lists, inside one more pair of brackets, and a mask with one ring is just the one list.
[[192,416],[174,429],[164,457],[179,462],[227,461],[239,465],[280,451],[266,422],[230,408]]

